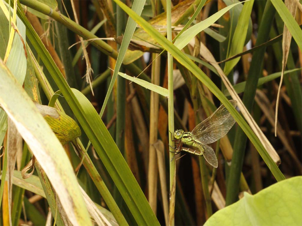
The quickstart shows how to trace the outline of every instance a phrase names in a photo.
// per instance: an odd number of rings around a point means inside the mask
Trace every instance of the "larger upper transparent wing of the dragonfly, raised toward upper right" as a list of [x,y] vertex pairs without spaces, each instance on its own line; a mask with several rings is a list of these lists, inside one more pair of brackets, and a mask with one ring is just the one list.
[[[230,102],[234,107],[237,106],[236,100]],[[234,124],[233,116],[224,105],[221,105],[209,118],[198,124],[192,133],[200,142],[210,144],[224,137]]]

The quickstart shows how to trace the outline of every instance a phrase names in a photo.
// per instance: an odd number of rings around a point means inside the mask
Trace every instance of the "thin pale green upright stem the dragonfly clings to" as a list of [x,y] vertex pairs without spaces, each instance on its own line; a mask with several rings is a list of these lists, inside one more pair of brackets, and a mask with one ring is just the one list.
[[[172,41],[171,30],[171,1],[167,1],[167,39]],[[169,225],[174,225],[175,212],[175,158],[172,147],[174,147],[174,98],[173,98],[173,57],[168,52],[168,120],[169,120],[169,145],[170,145],[170,207],[169,207]],[[172,139],[173,138],[173,139]]]

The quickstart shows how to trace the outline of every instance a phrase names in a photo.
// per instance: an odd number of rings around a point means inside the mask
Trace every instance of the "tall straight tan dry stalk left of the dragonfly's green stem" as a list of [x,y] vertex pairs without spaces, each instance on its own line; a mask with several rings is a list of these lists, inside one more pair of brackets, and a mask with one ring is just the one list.
[[[151,83],[159,85],[160,58],[153,53],[152,59],[156,59],[152,64]],[[149,167],[148,167],[148,201],[154,213],[156,213],[157,201],[157,178],[158,167],[156,159],[156,149],[154,143],[157,141],[157,124],[159,111],[159,94],[150,92],[150,132],[149,132]]]

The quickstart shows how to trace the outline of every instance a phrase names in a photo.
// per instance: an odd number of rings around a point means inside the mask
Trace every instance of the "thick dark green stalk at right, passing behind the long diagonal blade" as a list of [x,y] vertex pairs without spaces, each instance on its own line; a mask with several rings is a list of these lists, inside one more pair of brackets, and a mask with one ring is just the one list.
[[[259,27],[259,33],[256,41],[256,46],[266,42],[269,37],[269,31],[273,23],[273,19],[275,16],[275,8],[272,5],[271,1],[266,2],[265,9],[263,12],[262,23]],[[265,53],[265,47],[259,48],[254,52],[251,66],[249,69],[248,78],[246,81],[246,89],[243,95],[243,104],[246,106],[248,111],[251,111],[254,97],[256,93],[257,83],[259,79],[259,74],[262,67],[263,57]],[[233,159],[232,165],[230,168],[230,176],[227,181],[226,187],[226,205],[230,205],[233,202],[236,202],[238,198],[238,190],[239,190],[239,180],[240,174],[243,166],[243,158],[244,158],[244,149],[246,146],[246,134],[243,132],[241,127],[237,128],[234,149],[233,149]]]

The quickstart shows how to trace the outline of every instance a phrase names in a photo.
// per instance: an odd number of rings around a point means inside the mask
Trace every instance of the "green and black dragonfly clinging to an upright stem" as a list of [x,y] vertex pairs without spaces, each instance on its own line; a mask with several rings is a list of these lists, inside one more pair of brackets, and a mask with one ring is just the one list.
[[[230,100],[234,108],[237,106],[236,100]],[[235,124],[235,119],[224,105],[220,105],[209,118],[198,124],[192,132],[175,130],[174,138],[177,146],[174,147],[175,154],[181,151],[189,152],[194,155],[203,155],[204,159],[213,167],[218,167],[217,157],[214,150],[207,144],[214,143]],[[185,145],[185,146],[184,146]]]

